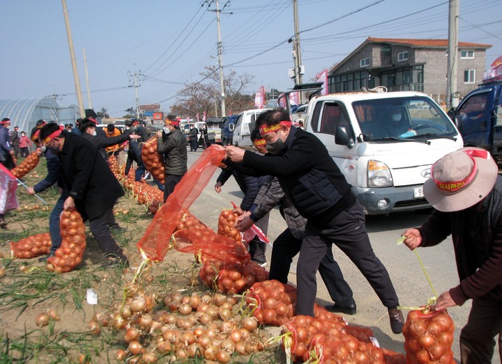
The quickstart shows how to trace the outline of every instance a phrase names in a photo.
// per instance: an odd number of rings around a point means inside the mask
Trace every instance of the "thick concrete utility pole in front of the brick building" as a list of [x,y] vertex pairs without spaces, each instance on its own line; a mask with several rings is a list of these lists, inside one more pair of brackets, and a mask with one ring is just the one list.
[[460,99],[457,88],[459,3],[460,0],[450,0],[448,12],[448,72],[446,74],[446,104],[448,109],[457,107]]

